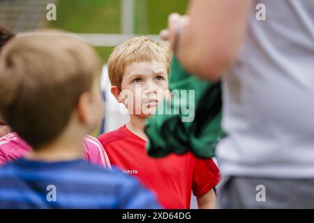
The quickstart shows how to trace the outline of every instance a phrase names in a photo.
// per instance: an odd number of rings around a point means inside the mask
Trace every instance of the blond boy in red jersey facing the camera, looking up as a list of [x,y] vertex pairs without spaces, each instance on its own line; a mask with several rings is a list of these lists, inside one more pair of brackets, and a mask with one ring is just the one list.
[[213,208],[214,187],[220,180],[213,160],[197,159],[192,153],[156,159],[145,149],[145,119],[169,95],[170,59],[167,47],[146,37],[132,38],[114,49],[108,61],[111,91],[127,107],[130,122],[98,139],[111,164],[137,176],[164,208],[189,208],[192,190],[199,208]]

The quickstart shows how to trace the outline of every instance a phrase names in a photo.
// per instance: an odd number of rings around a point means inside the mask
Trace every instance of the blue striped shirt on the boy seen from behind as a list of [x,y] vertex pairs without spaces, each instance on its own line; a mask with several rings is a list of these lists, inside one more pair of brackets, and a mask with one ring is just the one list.
[[114,167],[20,159],[0,168],[0,208],[160,207],[135,178]]

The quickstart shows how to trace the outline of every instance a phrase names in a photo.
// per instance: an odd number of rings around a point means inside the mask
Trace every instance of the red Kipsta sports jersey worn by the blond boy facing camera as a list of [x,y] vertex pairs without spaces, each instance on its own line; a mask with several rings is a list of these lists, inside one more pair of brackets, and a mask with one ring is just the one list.
[[192,153],[149,157],[146,141],[130,132],[126,125],[100,135],[98,140],[110,163],[126,174],[137,176],[164,208],[190,208],[192,190],[200,197],[219,183],[220,172],[212,159],[199,159]]

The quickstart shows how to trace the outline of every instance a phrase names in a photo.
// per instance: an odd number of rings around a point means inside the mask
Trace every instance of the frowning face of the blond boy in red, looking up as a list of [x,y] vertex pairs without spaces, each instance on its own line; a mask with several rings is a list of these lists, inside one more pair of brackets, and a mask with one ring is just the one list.
[[158,102],[169,96],[168,75],[165,63],[135,62],[126,66],[121,82],[120,101],[129,114],[151,116]]

